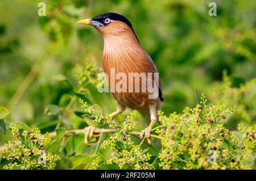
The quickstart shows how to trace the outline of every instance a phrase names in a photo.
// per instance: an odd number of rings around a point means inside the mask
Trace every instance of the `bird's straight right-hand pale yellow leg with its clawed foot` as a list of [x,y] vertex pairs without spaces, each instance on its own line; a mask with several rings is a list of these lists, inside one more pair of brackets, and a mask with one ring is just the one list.
[[158,114],[156,111],[156,106],[149,106],[149,110],[150,110],[150,124],[148,125],[148,127],[146,129],[143,129],[141,132],[141,135],[139,136],[141,139],[143,139],[143,137],[146,138],[148,144],[151,144],[151,140],[150,140],[150,132],[151,129],[153,127],[153,125],[155,124],[155,121],[158,120]]

